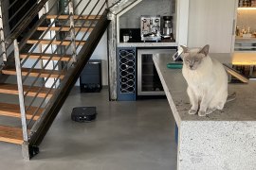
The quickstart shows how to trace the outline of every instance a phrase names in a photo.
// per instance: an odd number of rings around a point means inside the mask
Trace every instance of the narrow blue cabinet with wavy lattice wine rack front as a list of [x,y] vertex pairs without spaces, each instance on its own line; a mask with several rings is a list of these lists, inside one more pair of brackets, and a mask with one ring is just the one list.
[[118,100],[136,100],[136,48],[118,48]]

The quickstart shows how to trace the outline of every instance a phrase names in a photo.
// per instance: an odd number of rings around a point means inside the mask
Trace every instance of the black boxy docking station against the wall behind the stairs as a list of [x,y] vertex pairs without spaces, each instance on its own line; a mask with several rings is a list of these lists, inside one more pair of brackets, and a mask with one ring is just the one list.
[[90,59],[80,75],[80,90],[82,93],[99,93],[101,89],[101,59]]

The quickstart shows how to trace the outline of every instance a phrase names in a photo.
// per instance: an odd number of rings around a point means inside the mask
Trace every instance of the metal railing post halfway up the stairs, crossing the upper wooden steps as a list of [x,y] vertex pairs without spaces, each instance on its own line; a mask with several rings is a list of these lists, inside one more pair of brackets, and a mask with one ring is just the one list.
[[72,59],[74,62],[77,61],[77,50],[76,50],[76,32],[75,32],[75,23],[74,23],[74,8],[73,8],[73,0],[70,0],[68,3],[69,10],[69,21],[70,21],[70,37],[71,37],[71,51],[72,51]]

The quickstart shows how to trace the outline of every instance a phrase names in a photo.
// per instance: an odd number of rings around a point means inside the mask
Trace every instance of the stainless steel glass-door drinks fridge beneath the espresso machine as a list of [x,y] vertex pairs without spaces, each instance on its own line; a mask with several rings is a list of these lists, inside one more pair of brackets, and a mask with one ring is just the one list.
[[170,54],[174,49],[137,49],[137,95],[164,95],[160,78],[156,72],[153,56],[159,53]]

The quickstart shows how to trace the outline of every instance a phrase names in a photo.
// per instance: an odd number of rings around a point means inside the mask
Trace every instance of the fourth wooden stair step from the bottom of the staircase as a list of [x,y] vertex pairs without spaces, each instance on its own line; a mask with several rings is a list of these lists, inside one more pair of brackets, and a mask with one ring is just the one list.
[[[22,76],[27,76],[29,72],[29,68],[22,68]],[[51,70],[41,70],[41,69],[32,69],[28,76],[40,76],[40,77],[52,77],[52,78],[64,78],[64,74],[61,74],[60,71],[52,71]],[[16,75],[15,69],[3,69],[2,74],[4,75]]]

